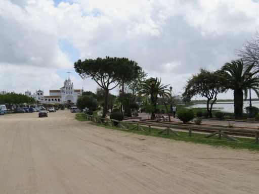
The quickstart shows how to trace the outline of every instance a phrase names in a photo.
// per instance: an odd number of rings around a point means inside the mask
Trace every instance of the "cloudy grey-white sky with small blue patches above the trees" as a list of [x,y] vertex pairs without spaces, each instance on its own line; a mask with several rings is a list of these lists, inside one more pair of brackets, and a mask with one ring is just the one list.
[[73,64],[111,56],[182,92],[200,68],[238,58],[259,30],[258,10],[255,0],[0,0],[0,91],[49,95],[68,71],[75,88],[95,91]]

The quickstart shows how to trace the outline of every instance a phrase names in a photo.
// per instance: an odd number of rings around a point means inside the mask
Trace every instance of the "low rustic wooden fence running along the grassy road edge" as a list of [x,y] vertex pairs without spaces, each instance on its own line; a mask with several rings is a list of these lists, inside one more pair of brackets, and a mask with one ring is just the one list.
[[[213,135],[218,135],[219,139],[221,139],[222,136],[238,141],[238,139],[229,136],[229,134],[242,134],[242,136],[254,136],[255,137],[255,143],[259,143],[259,130],[256,129],[231,129],[231,128],[224,128],[224,127],[203,127],[203,126],[184,126],[184,125],[174,125],[174,124],[161,124],[161,123],[154,123],[154,122],[147,122],[147,121],[118,121],[115,119],[109,119],[109,118],[101,118],[93,115],[88,115],[83,113],[83,117],[85,119],[88,119],[90,121],[96,122],[96,123],[102,123],[107,126],[116,126],[120,128],[125,128],[128,130],[142,130],[144,129],[141,126],[148,126],[148,132],[151,132],[151,126],[152,127],[163,127],[159,134],[166,132],[167,135],[169,135],[169,132],[174,133],[175,135],[180,135],[177,131],[174,129],[182,129],[182,130],[188,130],[189,136],[192,135],[192,131],[204,131],[204,132],[211,132],[210,134],[206,135],[206,138],[209,138]],[[133,124],[134,127],[130,128],[130,124]],[[135,126],[136,125],[136,126]],[[227,134],[228,133],[228,134]]]

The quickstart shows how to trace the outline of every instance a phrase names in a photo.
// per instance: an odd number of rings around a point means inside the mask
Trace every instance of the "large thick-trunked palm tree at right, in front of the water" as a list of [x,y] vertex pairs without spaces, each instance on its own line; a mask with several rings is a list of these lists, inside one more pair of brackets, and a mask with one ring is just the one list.
[[[252,71],[254,63],[244,67],[242,60],[231,61],[226,63],[222,68],[222,75],[227,81],[227,88],[234,91],[234,117],[242,118],[243,113],[243,95],[247,99],[249,87],[259,96],[259,80],[256,74],[259,72]],[[249,74],[249,79],[245,79],[245,74]]]

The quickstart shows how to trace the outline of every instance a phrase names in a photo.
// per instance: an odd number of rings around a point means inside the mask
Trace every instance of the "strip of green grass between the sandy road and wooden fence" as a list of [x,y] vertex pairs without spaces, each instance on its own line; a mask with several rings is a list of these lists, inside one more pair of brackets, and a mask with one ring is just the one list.
[[[75,115],[75,119],[78,121],[88,121],[85,119],[81,113],[77,113]],[[205,138],[206,134],[199,134],[199,133],[192,133],[192,136],[188,136],[188,132],[182,132],[177,131],[180,136],[176,136],[172,133],[169,133],[169,135],[164,134],[158,134],[159,131],[162,129],[157,129],[154,127],[151,127],[151,132],[148,132],[147,126],[141,126],[145,131],[138,131],[138,130],[128,130],[124,128],[118,128],[118,127],[111,127],[111,126],[105,126],[101,123],[95,123],[91,122],[91,124],[96,126],[101,126],[113,130],[119,130],[119,131],[125,131],[125,132],[132,132],[142,135],[149,135],[154,137],[162,137],[162,138],[168,138],[168,139],[174,139],[179,141],[186,141],[186,142],[193,142],[193,143],[200,143],[200,144],[208,144],[210,146],[215,147],[227,147],[227,148],[233,148],[233,149],[247,149],[251,151],[259,151],[259,144],[254,143],[254,138],[243,138],[243,137],[235,137],[238,141],[231,141],[225,137],[222,136],[222,139],[218,139],[218,136],[212,136],[210,138]],[[135,127],[136,125],[130,124],[130,129]]]

